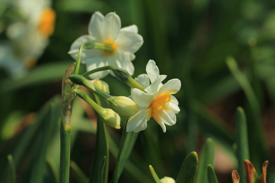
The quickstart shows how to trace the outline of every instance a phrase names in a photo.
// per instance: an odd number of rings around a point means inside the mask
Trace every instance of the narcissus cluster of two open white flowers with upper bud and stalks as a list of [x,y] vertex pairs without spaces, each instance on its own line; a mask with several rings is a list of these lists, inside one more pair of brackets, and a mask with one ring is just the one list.
[[[175,114],[180,111],[178,101],[173,96],[180,90],[180,80],[171,79],[162,84],[166,75],[160,75],[154,60],[149,60],[147,74],[141,74],[133,80],[131,75],[134,66],[131,61],[135,58],[134,53],[142,46],[143,39],[137,34],[136,25],[121,28],[120,18],[114,12],[105,17],[100,12],[95,12],[88,32],[89,35],[75,40],[68,52],[76,60],[76,74],[70,75],[70,80],[103,98],[116,113],[129,116],[126,132],[146,129],[151,117],[166,132],[165,125],[174,125]],[[78,75],[80,62],[87,66],[88,72],[83,76]],[[93,79],[103,78],[108,73],[131,86],[131,96],[111,96],[84,77],[89,75]],[[90,105],[98,111],[99,107]],[[117,127],[117,124],[116,122],[113,126]]]

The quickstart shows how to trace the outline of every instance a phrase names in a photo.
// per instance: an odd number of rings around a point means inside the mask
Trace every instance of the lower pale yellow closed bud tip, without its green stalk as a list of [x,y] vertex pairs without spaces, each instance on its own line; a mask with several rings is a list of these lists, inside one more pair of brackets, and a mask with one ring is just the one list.
[[120,129],[120,116],[112,109],[105,108],[106,114],[102,115],[103,122],[110,127]]

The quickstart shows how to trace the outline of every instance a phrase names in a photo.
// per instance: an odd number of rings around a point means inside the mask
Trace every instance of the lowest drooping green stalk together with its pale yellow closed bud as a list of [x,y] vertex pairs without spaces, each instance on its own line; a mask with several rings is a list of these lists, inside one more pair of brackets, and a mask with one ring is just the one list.
[[73,92],[87,102],[102,117],[105,124],[120,129],[120,117],[112,109],[101,107],[82,90],[73,89]]

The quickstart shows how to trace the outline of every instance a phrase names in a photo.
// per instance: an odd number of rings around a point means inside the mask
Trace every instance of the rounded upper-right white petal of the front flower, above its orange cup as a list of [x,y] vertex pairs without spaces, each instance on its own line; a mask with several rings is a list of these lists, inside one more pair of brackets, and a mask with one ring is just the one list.
[[167,81],[158,91],[157,96],[161,95],[161,94],[175,94],[180,90],[180,80],[179,79],[171,79],[169,81]]

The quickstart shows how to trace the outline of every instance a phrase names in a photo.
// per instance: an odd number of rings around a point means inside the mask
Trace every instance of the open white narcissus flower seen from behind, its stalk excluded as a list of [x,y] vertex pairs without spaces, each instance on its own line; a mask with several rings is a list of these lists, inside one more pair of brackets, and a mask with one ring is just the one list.
[[[88,27],[89,35],[77,38],[68,52],[74,60],[77,58],[81,44],[88,41],[111,44],[113,52],[103,50],[83,50],[81,63],[86,64],[87,71],[95,68],[111,65],[117,66],[133,75],[134,66],[132,60],[134,53],[142,46],[143,38],[137,34],[137,26],[130,25],[121,28],[120,18],[115,12],[108,13],[105,17],[100,12],[95,12]],[[111,71],[101,71],[91,74],[90,77],[103,78]]]

